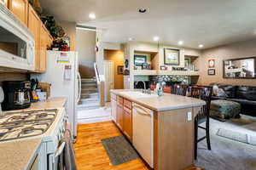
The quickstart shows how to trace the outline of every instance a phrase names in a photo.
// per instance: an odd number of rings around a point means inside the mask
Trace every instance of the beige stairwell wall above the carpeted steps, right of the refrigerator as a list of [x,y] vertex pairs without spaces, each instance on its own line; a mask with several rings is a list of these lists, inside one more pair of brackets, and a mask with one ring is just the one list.
[[96,32],[77,29],[76,41],[81,77],[95,77],[93,64],[96,62]]

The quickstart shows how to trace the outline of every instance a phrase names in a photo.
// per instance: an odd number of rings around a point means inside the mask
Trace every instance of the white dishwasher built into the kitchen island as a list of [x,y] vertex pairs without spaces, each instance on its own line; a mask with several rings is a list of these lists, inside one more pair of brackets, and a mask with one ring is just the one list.
[[154,111],[132,103],[132,144],[154,167]]

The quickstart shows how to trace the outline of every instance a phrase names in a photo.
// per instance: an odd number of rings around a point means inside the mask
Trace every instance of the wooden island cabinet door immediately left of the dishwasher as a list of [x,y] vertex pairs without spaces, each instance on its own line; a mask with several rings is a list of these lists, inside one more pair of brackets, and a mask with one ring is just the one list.
[[123,118],[124,118],[124,133],[128,139],[132,139],[132,116],[131,110],[124,107]]

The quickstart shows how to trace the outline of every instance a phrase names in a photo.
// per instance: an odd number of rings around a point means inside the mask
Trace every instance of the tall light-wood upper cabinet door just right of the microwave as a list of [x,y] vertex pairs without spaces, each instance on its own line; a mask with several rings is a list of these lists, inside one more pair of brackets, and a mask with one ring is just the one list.
[[41,20],[31,5],[28,7],[27,26],[35,39],[35,71],[40,71],[40,25]]

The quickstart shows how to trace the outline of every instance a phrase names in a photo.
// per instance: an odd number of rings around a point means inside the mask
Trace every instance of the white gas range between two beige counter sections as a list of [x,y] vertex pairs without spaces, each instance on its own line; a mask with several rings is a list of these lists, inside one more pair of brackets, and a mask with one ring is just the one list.
[[[57,170],[58,153],[65,133],[65,110],[63,108],[36,111],[11,111],[0,118],[0,143],[11,140],[41,138],[37,151],[38,170]],[[19,124],[19,126],[17,126]]]

